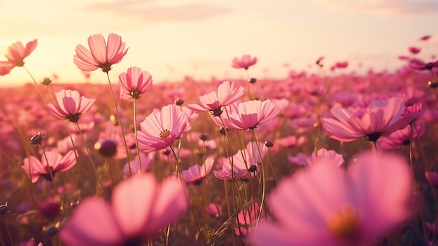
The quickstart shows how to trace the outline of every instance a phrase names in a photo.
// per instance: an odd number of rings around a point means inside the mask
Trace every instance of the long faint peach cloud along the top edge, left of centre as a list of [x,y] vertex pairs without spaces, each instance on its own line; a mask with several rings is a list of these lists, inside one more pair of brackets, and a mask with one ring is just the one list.
[[230,8],[202,3],[156,6],[152,0],[113,1],[111,3],[90,4],[78,8],[78,11],[106,12],[122,18],[136,18],[148,22],[188,22],[204,20],[232,12]]

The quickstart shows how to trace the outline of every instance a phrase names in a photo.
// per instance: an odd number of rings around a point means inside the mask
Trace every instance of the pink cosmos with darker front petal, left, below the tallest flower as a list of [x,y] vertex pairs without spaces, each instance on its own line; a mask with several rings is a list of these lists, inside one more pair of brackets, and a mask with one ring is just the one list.
[[50,113],[71,122],[78,122],[80,116],[96,102],[95,99],[80,96],[76,90],[60,90],[55,93],[55,101],[57,105],[52,103],[45,105]]

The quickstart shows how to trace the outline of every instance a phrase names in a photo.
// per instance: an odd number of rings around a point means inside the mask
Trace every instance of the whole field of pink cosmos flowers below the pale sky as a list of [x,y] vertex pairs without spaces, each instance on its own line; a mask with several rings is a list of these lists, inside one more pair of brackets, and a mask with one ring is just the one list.
[[[31,76],[37,44],[13,43],[0,75]],[[111,81],[128,46],[76,47],[106,84],[0,90],[0,245],[438,245],[438,61],[421,49],[395,72],[320,57],[252,78],[243,55],[247,80]]]

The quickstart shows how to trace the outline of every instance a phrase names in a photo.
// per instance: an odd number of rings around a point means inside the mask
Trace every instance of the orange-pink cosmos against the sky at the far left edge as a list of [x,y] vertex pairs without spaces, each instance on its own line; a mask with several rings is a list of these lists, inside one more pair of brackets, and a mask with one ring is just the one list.
[[0,61],[0,76],[9,74],[14,67],[23,67],[24,58],[28,57],[35,50],[38,39],[34,39],[23,46],[22,42],[17,41],[8,47],[8,54],[5,55],[7,61]]

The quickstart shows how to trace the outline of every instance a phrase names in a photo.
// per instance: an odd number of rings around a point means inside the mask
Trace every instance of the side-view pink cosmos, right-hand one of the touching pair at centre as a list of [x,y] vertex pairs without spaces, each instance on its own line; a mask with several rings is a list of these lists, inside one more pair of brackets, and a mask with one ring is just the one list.
[[254,129],[257,125],[273,119],[279,112],[280,109],[269,99],[263,102],[259,100],[241,102],[237,111],[229,114],[226,125],[232,129]]

